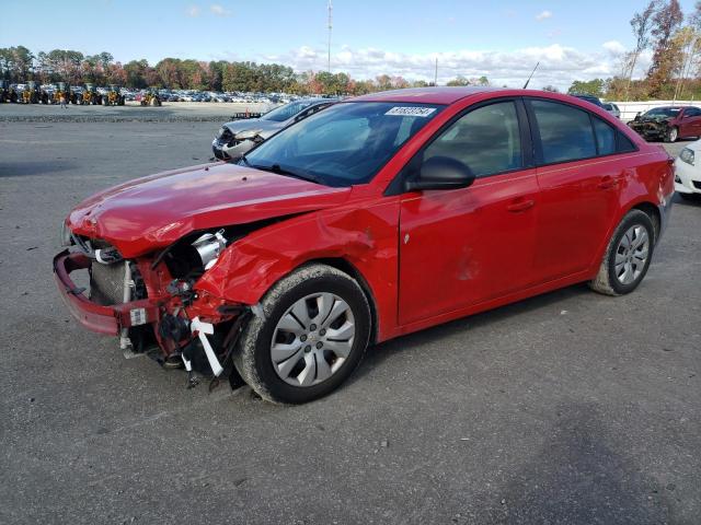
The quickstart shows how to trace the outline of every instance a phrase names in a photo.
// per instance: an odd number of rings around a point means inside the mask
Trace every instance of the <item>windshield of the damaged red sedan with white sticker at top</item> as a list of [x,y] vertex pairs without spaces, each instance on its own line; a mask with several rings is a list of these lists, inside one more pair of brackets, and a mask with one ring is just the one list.
[[412,103],[336,104],[263,142],[242,163],[326,186],[367,183],[441,108]]

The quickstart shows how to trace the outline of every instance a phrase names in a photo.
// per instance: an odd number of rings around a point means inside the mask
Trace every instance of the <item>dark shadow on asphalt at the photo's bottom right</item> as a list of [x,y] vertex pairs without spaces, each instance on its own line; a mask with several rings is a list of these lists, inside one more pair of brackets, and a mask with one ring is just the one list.
[[478,512],[478,523],[678,523],[667,489],[624,452],[606,411],[594,402],[558,406],[541,452],[509,476],[503,499]]

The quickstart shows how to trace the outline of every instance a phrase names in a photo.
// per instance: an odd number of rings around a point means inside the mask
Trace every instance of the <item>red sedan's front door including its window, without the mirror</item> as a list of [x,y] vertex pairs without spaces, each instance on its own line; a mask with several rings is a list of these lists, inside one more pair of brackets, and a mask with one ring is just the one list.
[[[471,109],[420,153],[457,159],[471,187],[405,194],[399,320],[406,325],[495,299],[532,280],[539,190],[525,167],[517,103]],[[524,118],[521,126],[527,126]]]

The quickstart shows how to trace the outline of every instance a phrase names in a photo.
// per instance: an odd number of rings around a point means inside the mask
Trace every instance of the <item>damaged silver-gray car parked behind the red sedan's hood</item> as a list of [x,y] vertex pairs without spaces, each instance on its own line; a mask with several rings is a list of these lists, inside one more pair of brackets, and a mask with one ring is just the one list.
[[217,159],[235,161],[280,129],[285,129],[336,102],[336,98],[303,98],[276,107],[261,118],[227,122],[219,129],[211,142],[211,150]]

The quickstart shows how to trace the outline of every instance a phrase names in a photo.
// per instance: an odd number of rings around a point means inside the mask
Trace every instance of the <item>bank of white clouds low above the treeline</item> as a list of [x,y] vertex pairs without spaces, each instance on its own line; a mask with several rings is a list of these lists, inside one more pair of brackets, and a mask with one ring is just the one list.
[[[275,58],[257,58],[290,66],[298,72],[326,69],[326,50],[310,46],[277,54]],[[608,78],[617,74],[620,69],[620,60],[608,49],[599,48],[598,51],[584,52],[560,44],[510,51],[463,49],[439,54],[404,54],[372,47],[355,49],[343,46],[332,55],[331,65],[334,71],[345,71],[355,79],[371,79],[387,73],[402,75],[407,80],[433,81],[436,58],[439,84],[445,84],[458,75],[485,75],[494,85],[520,88],[536,62],[540,61],[530,85],[552,84],[566,91],[574,80]],[[642,68],[646,61],[642,57],[641,61]]]

